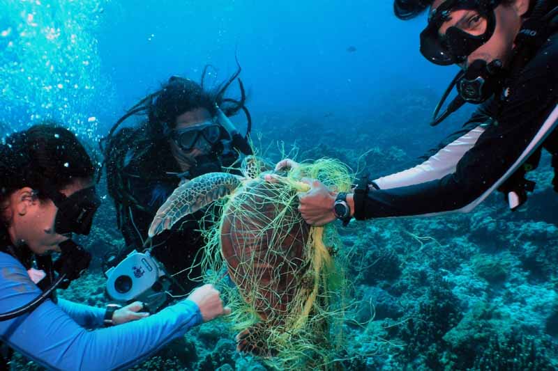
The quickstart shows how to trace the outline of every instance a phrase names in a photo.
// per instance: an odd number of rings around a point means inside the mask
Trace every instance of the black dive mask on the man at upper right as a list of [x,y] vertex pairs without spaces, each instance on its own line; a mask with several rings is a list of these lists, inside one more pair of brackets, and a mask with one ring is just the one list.
[[[421,54],[437,65],[463,63],[476,49],[487,42],[494,33],[494,9],[501,0],[446,0],[432,10],[428,26],[421,32]],[[455,10],[469,10],[465,17],[455,19],[455,24],[444,35],[439,29],[452,18]]]

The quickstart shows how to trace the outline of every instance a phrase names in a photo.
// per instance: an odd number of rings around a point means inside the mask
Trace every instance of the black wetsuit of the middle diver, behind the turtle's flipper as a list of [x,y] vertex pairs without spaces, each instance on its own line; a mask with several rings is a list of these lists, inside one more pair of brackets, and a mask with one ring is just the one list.
[[[178,187],[181,180],[176,174],[182,171],[166,146],[152,148],[144,155],[131,159],[124,172],[126,187],[139,205],[132,203],[128,207],[123,206],[120,229],[127,248],[120,258],[124,258],[134,248],[142,250],[153,217]],[[181,285],[183,290],[178,290],[182,292],[176,292],[175,287],[176,294],[189,292],[199,285],[199,281],[193,279],[201,275],[199,262],[202,254],[199,251],[204,241],[199,232],[199,219],[203,214],[199,211],[186,216],[172,230],[153,237],[149,245],[155,246],[151,254],[165,265],[167,273],[173,275]]]

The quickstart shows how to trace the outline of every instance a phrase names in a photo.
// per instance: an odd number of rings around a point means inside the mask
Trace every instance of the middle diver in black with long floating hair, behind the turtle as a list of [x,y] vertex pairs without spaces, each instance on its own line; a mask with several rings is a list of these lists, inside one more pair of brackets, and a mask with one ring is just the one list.
[[[190,79],[171,77],[156,93],[145,97],[114,125],[103,151],[107,187],[126,247],[111,252],[115,265],[134,249],[153,246],[151,255],[174,278],[173,294],[185,294],[200,278],[199,253],[204,241],[198,231],[203,211],[187,216],[176,228],[146,244],[147,231],[158,208],[181,182],[232,166],[239,153],[250,153],[248,134],[241,136],[227,116],[243,110],[248,118],[246,95],[238,79],[241,99],[224,98],[239,70],[216,91],[204,90]],[[116,128],[133,115],[147,116],[138,127]]]

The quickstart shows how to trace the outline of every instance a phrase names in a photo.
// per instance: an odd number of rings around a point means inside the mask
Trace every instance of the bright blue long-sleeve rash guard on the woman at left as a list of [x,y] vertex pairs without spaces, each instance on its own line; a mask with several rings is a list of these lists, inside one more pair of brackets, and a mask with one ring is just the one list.
[[[20,308],[39,294],[23,265],[0,253],[0,312]],[[199,308],[190,300],[137,321],[98,329],[103,315],[101,308],[47,299],[31,313],[0,322],[0,340],[52,370],[115,370],[139,363],[202,323]]]

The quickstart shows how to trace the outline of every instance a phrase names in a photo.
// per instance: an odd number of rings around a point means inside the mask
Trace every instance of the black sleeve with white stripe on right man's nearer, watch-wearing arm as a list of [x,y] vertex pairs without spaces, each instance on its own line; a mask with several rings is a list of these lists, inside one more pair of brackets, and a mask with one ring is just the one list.
[[[531,141],[551,129],[558,91],[558,42],[529,62],[510,86],[497,122],[487,127],[474,146],[458,161],[453,173],[439,179],[368,192],[356,219],[470,211],[511,175],[510,170],[529,157]],[[538,145],[541,145],[538,143]],[[356,202],[356,201],[355,201]]]

